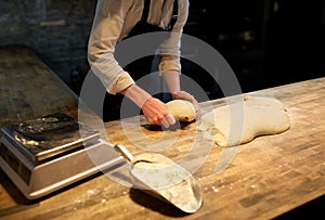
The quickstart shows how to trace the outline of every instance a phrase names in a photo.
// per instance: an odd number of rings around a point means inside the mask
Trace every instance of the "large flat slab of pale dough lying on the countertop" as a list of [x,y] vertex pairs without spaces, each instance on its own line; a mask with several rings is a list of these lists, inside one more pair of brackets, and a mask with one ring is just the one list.
[[281,133],[289,127],[290,119],[282,102],[246,95],[244,102],[217,107],[203,115],[198,130],[220,146],[233,146],[250,142],[258,135]]

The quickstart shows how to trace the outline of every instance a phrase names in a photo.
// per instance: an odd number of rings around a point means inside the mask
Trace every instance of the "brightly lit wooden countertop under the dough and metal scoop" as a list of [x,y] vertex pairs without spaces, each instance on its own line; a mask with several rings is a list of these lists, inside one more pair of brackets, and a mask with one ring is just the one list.
[[[109,142],[126,145],[134,155],[147,143],[159,141],[165,147],[158,153],[193,169],[199,165],[193,176],[204,204],[193,215],[117,182],[115,178],[125,169],[120,167],[108,172],[109,177],[100,172],[34,202],[27,202],[0,171],[0,219],[271,219],[324,195],[325,78],[250,94],[281,100],[291,127],[240,145],[219,173],[216,167],[223,148],[202,139],[195,122],[165,134],[146,127],[143,118],[105,124]],[[210,103],[222,105],[224,100]],[[202,103],[203,108],[206,105]],[[194,143],[199,145],[195,151]]]

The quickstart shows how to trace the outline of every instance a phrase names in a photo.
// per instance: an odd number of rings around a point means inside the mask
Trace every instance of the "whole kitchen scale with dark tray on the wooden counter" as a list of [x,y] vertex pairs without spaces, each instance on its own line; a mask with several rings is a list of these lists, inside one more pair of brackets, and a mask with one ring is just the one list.
[[99,131],[63,113],[4,126],[1,134],[0,167],[28,199],[123,161]]

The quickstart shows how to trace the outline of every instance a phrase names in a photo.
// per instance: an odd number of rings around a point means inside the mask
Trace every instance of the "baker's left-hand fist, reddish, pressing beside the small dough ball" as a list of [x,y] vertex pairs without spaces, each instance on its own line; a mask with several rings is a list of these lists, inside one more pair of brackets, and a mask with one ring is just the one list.
[[151,125],[161,125],[169,128],[176,124],[176,119],[168,112],[166,104],[156,98],[148,98],[142,105],[142,112]]

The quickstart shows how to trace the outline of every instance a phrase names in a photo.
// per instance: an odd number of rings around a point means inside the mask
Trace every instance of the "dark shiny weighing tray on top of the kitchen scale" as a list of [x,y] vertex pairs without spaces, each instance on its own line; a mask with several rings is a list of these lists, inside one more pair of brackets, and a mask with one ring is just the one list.
[[[3,137],[34,163],[62,155],[100,139],[100,132],[54,113],[1,128]],[[81,135],[82,133],[82,135]]]

